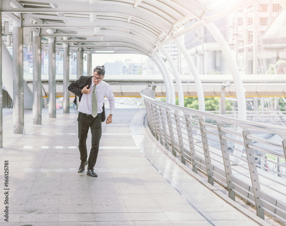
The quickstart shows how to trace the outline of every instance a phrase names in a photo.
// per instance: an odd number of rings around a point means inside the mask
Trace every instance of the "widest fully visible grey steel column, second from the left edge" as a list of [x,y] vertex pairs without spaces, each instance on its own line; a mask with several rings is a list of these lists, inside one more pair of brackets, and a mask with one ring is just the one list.
[[23,27],[13,27],[13,123],[14,133],[25,133]]

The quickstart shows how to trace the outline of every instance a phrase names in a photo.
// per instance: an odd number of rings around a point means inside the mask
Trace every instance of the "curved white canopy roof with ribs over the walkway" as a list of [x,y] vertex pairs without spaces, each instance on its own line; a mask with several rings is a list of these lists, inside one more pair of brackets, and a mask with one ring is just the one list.
[[[17,26],[24,27],[28,32],[33,30],[46,40],[54,38],[60,48],[62,43],[69,43],[70,50],[152,56],[158,45],[180,27],[210,11],[209,2],[213,1],[97,2],[91,5],[85,0],[1,0],[1,11],[3,17],[13,18],[19,22]],[[91,13],[96,13],[96,22],[90,22]]]

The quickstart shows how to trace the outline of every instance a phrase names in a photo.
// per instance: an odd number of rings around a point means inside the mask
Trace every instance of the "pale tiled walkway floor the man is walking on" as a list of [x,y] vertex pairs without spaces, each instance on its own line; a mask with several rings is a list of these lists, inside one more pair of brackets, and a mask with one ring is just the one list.
[[3,109],[0,225],[270,225],[164,153],[143,125],[144,109],[116,109],[102,124],[98,177],[78,173],[77,114],[57,109],[49,118],[43,109],[42,125],[33,125],[25,110],[25,134],[14,134],[12,109]]

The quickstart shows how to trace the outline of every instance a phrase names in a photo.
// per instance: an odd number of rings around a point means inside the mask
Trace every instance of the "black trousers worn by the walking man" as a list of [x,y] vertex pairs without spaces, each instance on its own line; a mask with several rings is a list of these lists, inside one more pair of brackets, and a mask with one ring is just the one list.
[[86,139],[88,130],[91,131],[91,149],[88,158],[88,170],[93,170],[98,156],[99,142],[101,138],[101,113],[95,118],[82,112],[78,113],[78,148],[80,150],[81,162],[86,162],[88,153],[86,149]]

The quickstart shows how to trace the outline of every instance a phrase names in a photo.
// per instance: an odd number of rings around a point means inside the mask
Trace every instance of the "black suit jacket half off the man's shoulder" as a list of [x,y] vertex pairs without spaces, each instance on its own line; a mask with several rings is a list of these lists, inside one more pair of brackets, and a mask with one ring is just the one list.
[[[71,91],[72,93],[74,93],[75,95],[77,95],[80,101],[80,99],[82,98],[82,93],[81,93],[82,89],[86,87],[87,85],[88,85],[87,89],[89,89],[91,86],[91,83],[92,83],[92,76],[80,76],[78,80],[69,84],[69,87],[67,89]],[[101,121],[104,122],[105,119],[106,117],[105,117],[105,109],[104,109],[104,103],[103,103]]]

